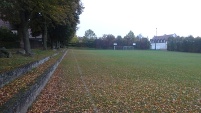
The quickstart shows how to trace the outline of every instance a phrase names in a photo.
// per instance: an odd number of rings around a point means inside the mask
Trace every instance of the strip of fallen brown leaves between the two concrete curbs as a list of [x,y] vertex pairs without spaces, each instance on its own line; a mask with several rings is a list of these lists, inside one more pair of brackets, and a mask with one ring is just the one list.
[[27,88],[33,84],[35,79],[44,73],[48,67],[53,65],[56,60],[61,57],[61,55],[62,53],[60,52],[57,56],[50,58],[48,61],[39,65],[37,68],[34,68],[30,72],[27,72],[23,76],[0,88],[0,106],[12,98],[16,93],[18,93],[20,89]]

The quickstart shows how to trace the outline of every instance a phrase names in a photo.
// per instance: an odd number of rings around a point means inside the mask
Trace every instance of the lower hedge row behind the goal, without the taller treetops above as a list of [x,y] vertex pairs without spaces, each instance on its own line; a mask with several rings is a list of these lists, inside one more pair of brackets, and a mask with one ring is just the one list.
[[[88,47],[96,49],[113,49],[114,43],[117,43],[116,49],[123,49],[123,46],[130,46],[134,49],[150,49],[150,42],[147,38],[122,38],[113,35],[104,35],[97,39],[89,39],[80,37],[79,41],[71,42],[70,45],[74,47]],[[135,45],[133,45],[135,43]]]

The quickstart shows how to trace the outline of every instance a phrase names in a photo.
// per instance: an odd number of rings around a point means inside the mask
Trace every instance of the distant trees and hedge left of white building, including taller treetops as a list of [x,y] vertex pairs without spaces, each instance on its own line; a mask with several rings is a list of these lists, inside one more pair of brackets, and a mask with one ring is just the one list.
[[83,37],[74,36],[70,45],[96,49],[113,49],[114,43],[116,49],[123,49],[124,46],[131,49],[150,49],[149,40],[141,34],[136,37],[132,31],[129,31],[123,38],[120,35],[115,37],[112,34],[104,34],[102,37],[97,38],[94,31],[89,29],[85,31]]

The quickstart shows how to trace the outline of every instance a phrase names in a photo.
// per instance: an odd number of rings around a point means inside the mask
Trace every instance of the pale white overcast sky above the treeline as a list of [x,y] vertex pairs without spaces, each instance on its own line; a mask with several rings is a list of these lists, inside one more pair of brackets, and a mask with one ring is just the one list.
[[82,0],[78,36],[92,29],[97,37],[124,37],[131,30],[150,39],[176,33],[201,36],[200,0]]

